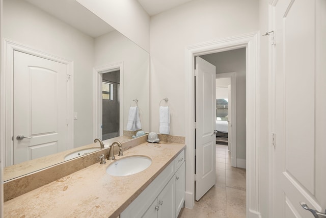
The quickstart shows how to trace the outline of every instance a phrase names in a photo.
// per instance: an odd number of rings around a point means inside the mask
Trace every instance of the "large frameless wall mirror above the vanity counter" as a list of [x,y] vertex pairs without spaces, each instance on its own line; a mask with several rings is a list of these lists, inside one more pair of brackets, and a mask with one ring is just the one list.
[[76,1],[4,0],[2,36],[6,167],[122,136],[135,105],[149,132],[149,54]]

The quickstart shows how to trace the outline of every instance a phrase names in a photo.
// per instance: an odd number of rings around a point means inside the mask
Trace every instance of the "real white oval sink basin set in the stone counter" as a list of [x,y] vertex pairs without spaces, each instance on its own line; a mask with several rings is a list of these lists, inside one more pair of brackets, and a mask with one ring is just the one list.
[[112,176],[129,176],[137,174],[152,164],[145,156],[130,156],[116,160],[106,168],[106,173]]

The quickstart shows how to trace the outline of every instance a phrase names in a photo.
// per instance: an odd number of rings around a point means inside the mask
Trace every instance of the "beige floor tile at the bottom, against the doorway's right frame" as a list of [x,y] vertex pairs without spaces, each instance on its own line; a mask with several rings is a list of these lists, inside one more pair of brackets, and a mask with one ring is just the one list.
[[246,191],[226,188],[226,211],[229,218],[246,217]]

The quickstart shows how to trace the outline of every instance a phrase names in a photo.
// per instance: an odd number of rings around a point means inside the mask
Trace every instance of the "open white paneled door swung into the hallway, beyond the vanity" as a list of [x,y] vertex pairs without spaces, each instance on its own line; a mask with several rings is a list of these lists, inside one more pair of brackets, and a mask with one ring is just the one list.
[[215,66],[196,57],[196,189],[198,201],[215,184]]

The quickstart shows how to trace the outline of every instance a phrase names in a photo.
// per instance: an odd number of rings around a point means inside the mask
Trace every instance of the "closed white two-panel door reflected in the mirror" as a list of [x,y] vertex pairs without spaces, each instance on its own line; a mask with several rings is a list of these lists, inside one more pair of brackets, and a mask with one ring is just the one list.
[[13,164],[67,150],[67,66],[14,51]]

